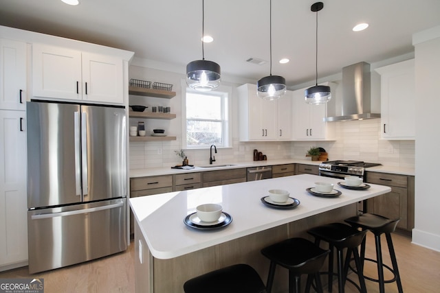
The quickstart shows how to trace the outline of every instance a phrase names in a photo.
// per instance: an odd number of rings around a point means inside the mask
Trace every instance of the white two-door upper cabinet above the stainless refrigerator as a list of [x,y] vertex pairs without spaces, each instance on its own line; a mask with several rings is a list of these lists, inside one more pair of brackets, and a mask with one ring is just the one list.
[[35,97],[123,103],[123,61],[120,58],[34,44]]

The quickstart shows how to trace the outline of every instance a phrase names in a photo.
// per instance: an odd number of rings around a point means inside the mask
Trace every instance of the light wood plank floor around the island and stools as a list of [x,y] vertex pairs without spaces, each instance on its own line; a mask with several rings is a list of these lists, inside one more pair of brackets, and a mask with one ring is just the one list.
[[[384,262],[391,265],[384,242]],[[415,244],[410,238],[393,234],[393,243],[397,254],[397,262],[406,293],[434,293],[440,292],[440,253]],[[367,257],[374,258],[374,237],[367,233]],[[45,293],[58,292],[134,292],[134,245],[124,253],[104,257],[95,261],[81,263],[49,272],[28,274],[28,267],[0,272],[3,278],[43,278]],[[366,263],[366,274],[374,277],[375,265]],[[263,276],[263,280],[266,277]],[[379,292],[377,283],[366,281],[368,292]],[[333,292],[338,292],[337,285]],[[397,292],[395,283],[386,284],[386,293]],[[345,292],[358,292],[353,285],[347,283]],[[175,292],[159,292],[175,293]],[[208,292],[207,292],[208,293]]]

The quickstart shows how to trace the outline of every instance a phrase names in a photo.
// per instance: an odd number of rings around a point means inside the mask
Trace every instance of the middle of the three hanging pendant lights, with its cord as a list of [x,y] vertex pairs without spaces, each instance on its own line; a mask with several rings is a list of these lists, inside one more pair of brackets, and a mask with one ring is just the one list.
[[256,95],[262,99],[278,99],[286,93],[286,80],[272,75],[272,0],[270,0],[270,75],[256,83]]

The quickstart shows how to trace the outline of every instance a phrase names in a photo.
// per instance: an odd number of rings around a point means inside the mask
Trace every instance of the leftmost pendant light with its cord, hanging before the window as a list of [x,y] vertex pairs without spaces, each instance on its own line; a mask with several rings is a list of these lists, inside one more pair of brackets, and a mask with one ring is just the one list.
[[203,35],[205,25],[205,1],[201,1],[201,60],[189,62],[186,65],[186,84],[196,91],[212,91],[220,85],[220,65],[205,60]]

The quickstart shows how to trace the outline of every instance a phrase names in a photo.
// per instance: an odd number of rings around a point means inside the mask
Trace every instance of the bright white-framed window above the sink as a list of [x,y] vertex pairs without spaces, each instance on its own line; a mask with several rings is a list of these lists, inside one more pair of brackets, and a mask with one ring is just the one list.
[[230,146],[230,92],[227,86],[209,92],[186,88],[184,148],[209,148],[212,144],[220,148]]

